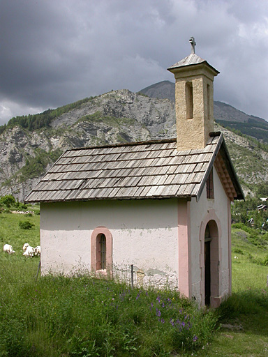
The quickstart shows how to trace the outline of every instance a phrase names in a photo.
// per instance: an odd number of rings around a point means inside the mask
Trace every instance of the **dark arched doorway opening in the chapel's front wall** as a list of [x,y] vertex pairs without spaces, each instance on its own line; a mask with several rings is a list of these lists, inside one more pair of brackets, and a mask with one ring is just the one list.
[[204,303],[208,306],[219,293],[219,263],[218,227],[209,220],[204,230]]

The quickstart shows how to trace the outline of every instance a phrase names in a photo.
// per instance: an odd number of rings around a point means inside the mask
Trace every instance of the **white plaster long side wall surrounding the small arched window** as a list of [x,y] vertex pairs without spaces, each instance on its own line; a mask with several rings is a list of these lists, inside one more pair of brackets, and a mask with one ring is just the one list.
[[91,233],[104,226],[114,273],[129,277],[133,264],[140,283],[177,287],[177,199],[42,204],[40,211],[42,273],[90,270]]

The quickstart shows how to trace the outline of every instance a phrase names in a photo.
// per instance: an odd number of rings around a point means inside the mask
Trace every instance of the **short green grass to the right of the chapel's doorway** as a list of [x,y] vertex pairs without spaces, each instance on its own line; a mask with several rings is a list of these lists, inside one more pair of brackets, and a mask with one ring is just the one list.
[[267,249],[248,243],[246,238],[245,231],[232,229],[233,294],[222,321],[241,329],[219,329],[209,348],[196,356],[268,356],[268,267],[249,259],[249,255],[264,257]]

